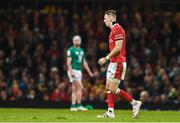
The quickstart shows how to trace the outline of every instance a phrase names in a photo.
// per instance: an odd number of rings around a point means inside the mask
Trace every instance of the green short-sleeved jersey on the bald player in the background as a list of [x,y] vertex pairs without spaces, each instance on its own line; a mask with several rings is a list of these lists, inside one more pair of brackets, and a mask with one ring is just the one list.
[[70,47],[67,50],[67,57],[71,57],[71,66],[72,69],[81,70],[82,62],[84,59],[84,51],[82,48],[76,48],[74,46]]

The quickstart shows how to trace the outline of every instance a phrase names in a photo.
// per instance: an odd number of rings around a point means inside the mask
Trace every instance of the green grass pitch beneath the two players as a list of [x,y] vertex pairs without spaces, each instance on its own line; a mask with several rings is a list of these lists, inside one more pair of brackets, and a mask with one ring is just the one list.
[[180,111],[141,111],[135,119],[131,110],[116,110],[116,118],[99,119],[105,110],[71,112],[69,109],[0,108],[0,122],[180,122]]

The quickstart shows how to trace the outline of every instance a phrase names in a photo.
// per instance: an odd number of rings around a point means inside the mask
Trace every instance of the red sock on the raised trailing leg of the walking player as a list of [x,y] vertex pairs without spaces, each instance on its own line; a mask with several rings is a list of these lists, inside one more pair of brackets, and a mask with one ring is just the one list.
[[131,102],[133,98],[124,90],[122,89],[117,89],[116,94],[121,96],[123,99],[125,99],[127,102]]

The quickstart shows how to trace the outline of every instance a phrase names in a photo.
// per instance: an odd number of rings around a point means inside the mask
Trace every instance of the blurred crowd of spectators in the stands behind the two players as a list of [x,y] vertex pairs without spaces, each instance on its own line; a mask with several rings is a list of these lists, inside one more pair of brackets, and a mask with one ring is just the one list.
[[[0,100],[70,101],[66,50],[79,34],[95,74],[90,78],[83,70],[83,100],[105,101],[107,65],[97,63],[109,52],[104,9],[74,4],[0,10]],[[180,102],[180,13],[136,5],[117,11],[127,35],[121,88],[143,102]]]

